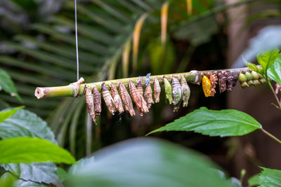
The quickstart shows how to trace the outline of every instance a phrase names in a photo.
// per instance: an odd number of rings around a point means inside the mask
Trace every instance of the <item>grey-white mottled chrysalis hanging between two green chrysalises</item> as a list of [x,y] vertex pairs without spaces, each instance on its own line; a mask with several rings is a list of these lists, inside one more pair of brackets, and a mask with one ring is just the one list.
[[181,85],[178,82],[178,79],[171,79],[171,88],[173,90],[173,104],[174,104],[174,112],[178,111],[181,102],[183,101],[183,90],[181,90]]

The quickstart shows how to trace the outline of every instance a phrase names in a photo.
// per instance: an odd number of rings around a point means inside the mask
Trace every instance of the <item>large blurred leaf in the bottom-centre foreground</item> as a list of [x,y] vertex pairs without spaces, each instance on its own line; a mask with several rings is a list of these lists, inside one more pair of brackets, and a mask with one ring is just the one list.
[[[207,158],[157,139],[131,139],[70,168],[69,186],[230,186]],[[204,176],[204,179],[202,179]]]

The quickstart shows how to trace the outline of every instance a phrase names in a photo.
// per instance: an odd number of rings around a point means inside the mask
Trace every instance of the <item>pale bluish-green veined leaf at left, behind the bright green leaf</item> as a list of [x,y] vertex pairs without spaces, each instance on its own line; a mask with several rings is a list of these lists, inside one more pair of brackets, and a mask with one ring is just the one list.
[[16,111],[13,116],[0,123],[0,137],[2,139],[38,137],[57,144],[55,136],[46,122],[36,114],[24,109]]

